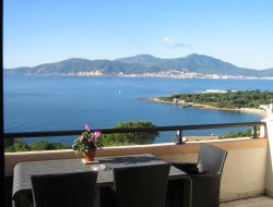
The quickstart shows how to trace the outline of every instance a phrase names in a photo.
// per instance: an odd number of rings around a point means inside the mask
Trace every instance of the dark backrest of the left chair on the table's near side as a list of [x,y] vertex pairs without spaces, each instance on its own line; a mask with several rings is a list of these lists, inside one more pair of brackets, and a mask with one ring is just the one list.
[[93,207],[97,172],[32,175],[36,207]]

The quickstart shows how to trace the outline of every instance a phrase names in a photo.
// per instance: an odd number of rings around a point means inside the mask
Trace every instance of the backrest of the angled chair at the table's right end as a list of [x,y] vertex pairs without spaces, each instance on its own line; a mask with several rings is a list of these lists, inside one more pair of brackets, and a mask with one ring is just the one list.
[[221,175],[226,156],[227,151],[224,149],[202,143],[200,144],[198,168],[209,174]]

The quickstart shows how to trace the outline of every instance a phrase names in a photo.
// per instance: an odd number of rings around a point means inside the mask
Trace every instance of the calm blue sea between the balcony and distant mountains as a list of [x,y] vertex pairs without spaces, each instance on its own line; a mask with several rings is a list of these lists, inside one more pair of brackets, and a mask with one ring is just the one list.
[[[181,108],[143,98],[205,89],[260,89],[273,92],[265,80],[176,80],[149,77],[4,76],[5,132],[111,127],[126,121],[155,125],[211,124],[260,121],[252,113]],[[225,134],[225,130],[187,131],[185,135]],[[246,129],[242,129],[246,130]],[[175,141],[175,132],[161,133],[155,143]],[[28,138],[71,144],[74,137]]]

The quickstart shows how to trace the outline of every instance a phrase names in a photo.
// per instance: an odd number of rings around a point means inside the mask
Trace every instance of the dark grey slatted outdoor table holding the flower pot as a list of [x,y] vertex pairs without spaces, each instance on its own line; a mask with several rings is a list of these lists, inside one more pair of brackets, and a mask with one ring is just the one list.
[[[59,159],[45,161],[20,162],[14,168],[12,199],[13,206],[24,206],[24,199],[32,196],[31,175],[34,174],[57,174],[92,171],[92,166],[104,165],[105,169],[98,171],[97,186],[114,184],[114,168],[130,166],[151,166],[165,163],[162,159],[151,154],[97,157],[98,163],[84,165],[81,159]],[[169,180],[189,179],[188,174],[171,166]],[[190,181],[190,180],[189,180]]]

